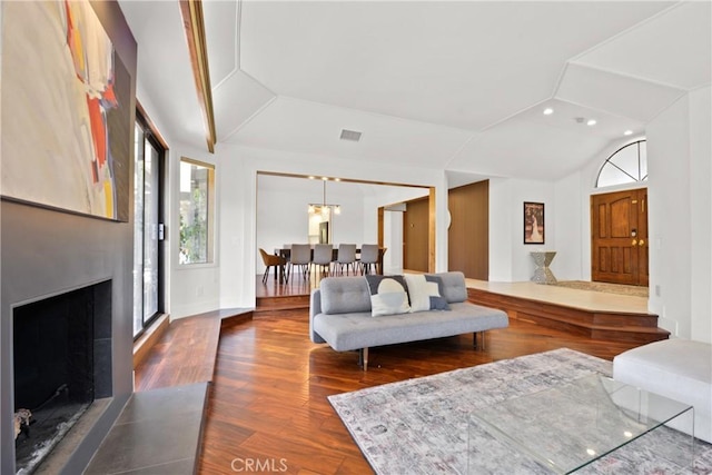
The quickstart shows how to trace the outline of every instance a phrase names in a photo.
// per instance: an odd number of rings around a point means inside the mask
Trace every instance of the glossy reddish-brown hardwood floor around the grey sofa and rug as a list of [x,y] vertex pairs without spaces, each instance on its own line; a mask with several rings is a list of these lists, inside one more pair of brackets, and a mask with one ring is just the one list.
[[308,309],[256,311],[221,329],[199,473],[372,473],[327,396],[561,347],[612,359],[630,345],[512,319],[485,349],[472,335],[373,348],[364,373],[357,353],[309,340]]

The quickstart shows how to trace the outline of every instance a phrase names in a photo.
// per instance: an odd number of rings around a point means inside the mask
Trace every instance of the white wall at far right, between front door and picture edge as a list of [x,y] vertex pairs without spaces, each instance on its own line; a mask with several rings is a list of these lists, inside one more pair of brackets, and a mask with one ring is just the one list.
[[647,127],[651,298],[663,328],[712,342],[710,88],[680,99]]

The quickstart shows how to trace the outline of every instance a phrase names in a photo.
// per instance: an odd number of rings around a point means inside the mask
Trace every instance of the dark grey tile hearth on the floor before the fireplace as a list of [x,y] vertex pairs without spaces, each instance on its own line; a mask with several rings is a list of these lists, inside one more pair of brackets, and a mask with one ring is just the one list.
[[85,474],[194,474],[209,383],[134,393]]

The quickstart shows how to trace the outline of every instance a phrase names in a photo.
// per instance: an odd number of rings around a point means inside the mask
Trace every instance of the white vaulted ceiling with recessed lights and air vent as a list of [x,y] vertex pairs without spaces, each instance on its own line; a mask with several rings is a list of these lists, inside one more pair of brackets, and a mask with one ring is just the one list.
[[[139,44],[139,100],[168,137],[205,148],[178,1],[119,3]],[[218,147],[552,180],[625,130],[644,133],[712,76],[710,1],[202,9]]]

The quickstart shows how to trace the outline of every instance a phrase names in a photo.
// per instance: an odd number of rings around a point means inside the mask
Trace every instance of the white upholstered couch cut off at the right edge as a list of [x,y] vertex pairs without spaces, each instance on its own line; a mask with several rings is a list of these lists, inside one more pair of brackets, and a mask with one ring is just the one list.
[[[613,379],[693,406],[694,436],[712,443],[712,345],[709,343],[675,338],[629,349],[613,358]],[[688,427],[675,428],[689,433]]]

